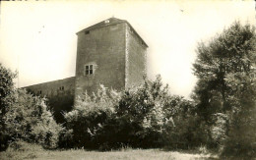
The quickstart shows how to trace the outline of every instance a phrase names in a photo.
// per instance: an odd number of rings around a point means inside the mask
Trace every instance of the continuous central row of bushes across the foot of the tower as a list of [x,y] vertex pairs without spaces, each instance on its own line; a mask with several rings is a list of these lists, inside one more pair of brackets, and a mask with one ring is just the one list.
[[[65,115],[67,131],[62,145],[102,150],[124,146],[175,147],[180,143],[188,146],[190,131],[186,127],[192,106],[182,97],[171,96],[168,86],[162,86],[160,76],[123,92],[101,86],[93,97],[81,97],[73,111]],[[186,120],[186,125],[181,120]]]

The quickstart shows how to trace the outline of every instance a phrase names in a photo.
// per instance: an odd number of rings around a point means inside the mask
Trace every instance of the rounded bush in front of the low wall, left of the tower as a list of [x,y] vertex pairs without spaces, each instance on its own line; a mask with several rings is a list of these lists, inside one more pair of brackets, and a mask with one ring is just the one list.
[[16,90],[13,96],[15,101],[3,117],[4,132],[9,139],[37,142],[46,148],[57,147],[62,127],[54,121],[45,99],[32,96],[24,89]]

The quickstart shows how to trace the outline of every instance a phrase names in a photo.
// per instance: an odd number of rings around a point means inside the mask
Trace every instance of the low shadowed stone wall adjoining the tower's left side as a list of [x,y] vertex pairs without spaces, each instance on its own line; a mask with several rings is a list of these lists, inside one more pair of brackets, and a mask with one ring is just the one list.
[[63,112],[69,112],[74,105],[75,78],[54,80],[24,87],[34,95],[46,97],[58,123],[63,123]]

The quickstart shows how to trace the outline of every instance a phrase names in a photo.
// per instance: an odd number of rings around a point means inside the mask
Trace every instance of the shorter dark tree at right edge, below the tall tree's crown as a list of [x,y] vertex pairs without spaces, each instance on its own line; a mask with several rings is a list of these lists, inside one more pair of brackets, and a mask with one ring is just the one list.
[[223,155],[256,156],[256,72],[234,73],[225,79],[232,88],[232,102]]

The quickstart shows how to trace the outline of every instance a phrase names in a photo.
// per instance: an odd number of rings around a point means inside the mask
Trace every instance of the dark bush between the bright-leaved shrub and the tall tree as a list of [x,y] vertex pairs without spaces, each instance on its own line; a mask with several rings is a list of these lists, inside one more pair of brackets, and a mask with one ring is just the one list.
[[180,96],[170,96],[164,108],[164,147],[168,149],[191,149],[198,147],[204,137],[198,127],[198,116],[194,113],[195,105]]

